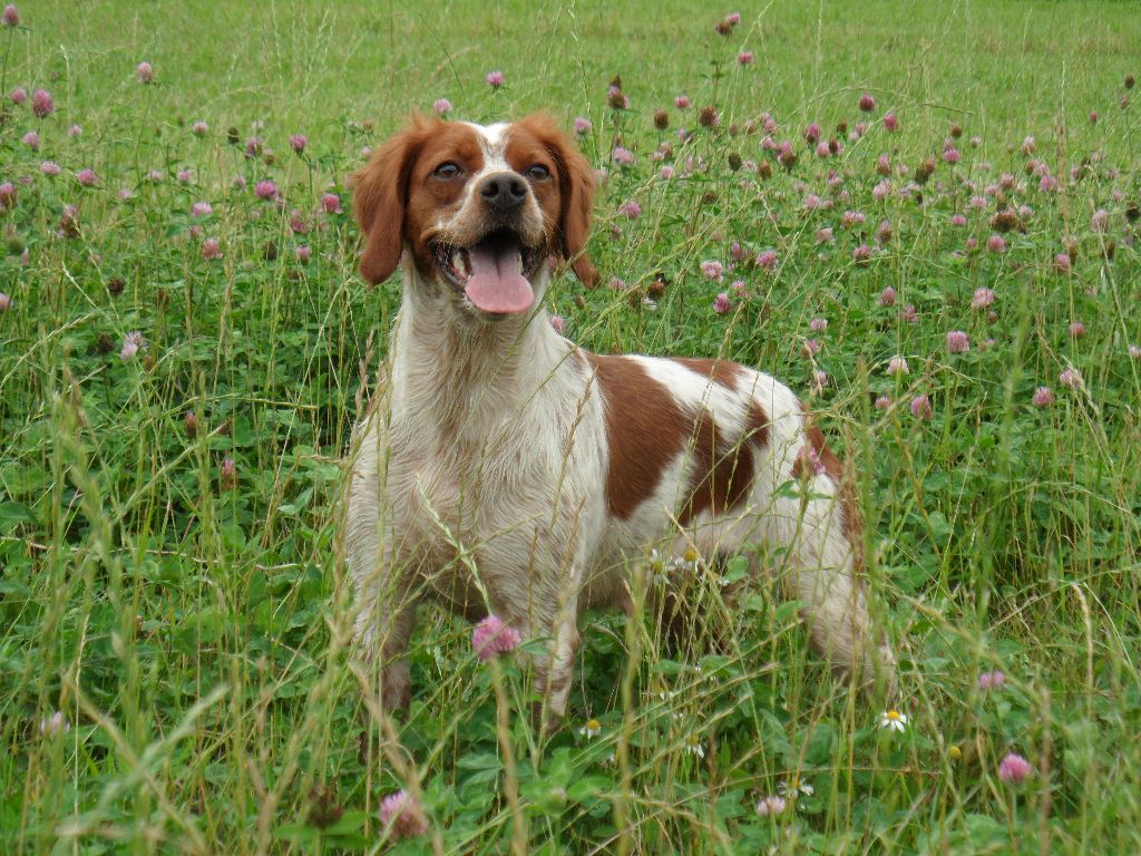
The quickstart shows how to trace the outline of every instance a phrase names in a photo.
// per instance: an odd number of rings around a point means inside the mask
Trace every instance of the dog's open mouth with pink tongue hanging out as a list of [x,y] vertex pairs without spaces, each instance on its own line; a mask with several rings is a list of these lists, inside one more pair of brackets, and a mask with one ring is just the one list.
[[535,301],[528,280],[539,267],[539,248],[525,247],[509,229],[492,232],[471,247],[436,242],[431,253],[444,278],[477,309],[512,315]]

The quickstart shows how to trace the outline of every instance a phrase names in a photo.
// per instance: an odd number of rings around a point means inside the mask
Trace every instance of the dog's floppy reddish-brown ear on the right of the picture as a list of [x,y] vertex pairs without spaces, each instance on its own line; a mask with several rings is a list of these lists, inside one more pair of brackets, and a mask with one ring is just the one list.
[[590,215],[594,204],[594,170],[549,115],[536,113],[521,124],[539,137],[559,171],[559,252],[570,263],[575,276],[588,289],[598,284],[598,270],[586,256]]

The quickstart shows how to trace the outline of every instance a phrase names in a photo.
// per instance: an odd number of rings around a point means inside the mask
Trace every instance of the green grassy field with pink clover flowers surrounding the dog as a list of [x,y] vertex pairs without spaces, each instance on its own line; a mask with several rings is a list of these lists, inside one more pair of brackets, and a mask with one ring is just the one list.
[[[17,11],[5,854],[1141,851],[1135,5]],[[410,716],[370,714],[341,455],[399,288],[356,275],[347,176],[438,98],[589,120],[604,288],[552,288],[568,338],[721,354],[823,414],[898,697],[755,584],[715,653],[588,615],[548,738],[518,663],[426,608]],[[426,832],[381,821],[399,789]]]

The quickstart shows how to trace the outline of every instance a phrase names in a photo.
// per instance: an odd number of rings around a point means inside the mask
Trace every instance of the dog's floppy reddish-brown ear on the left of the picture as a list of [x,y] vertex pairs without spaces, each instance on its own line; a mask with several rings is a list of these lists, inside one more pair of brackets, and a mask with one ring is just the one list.
[[373,285],[391,276],[400,263],[408,176],[423,145],[423,129],[420,116],[413,116],[353,173],[353,212],[365,236],[361,274]]

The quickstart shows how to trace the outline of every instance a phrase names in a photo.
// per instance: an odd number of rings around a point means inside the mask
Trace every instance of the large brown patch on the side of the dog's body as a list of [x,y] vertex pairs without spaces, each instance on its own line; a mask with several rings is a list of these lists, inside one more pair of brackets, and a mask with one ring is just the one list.
[[657,490],[670,461],[690,444],[693,466],[678,522],[689,523],[703,511],[722,514],[745,500],[755,477],[753,449],[769,441],[769,420],[760,404],[750,404],[744,436],[727,441],[707,410],[687,414],[633,360],[593,354],[588,360],[605,402],[610,447],[606,500],[612,515],[629,519]]

